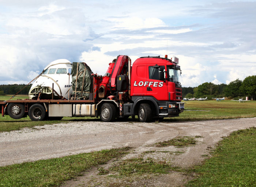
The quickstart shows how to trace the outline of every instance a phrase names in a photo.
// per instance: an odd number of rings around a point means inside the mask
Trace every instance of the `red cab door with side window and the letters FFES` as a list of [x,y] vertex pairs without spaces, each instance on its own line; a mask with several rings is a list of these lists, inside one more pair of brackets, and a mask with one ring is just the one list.
[[166,77],[164,65],[147,65],[148,80],[144,85],[147,87],[147,96],[153,96],[157,100],[168,100],[168,83],[159,80],[159,67],[163,68],[164,78]]

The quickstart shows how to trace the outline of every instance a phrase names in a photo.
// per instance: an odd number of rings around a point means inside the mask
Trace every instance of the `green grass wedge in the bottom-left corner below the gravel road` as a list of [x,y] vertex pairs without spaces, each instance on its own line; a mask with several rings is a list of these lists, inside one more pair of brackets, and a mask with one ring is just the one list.
[[128,147],[0,167],[0,186],[59,186],[92,166],[127,154]]

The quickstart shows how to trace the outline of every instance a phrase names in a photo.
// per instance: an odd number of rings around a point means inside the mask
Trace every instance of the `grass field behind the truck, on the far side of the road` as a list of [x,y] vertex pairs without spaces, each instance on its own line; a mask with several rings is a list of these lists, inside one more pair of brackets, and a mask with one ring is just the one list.
[[[11,95],[0,96],[0,100],[8,100]],[[26,99],[26,95],[18,95],[13,99]],[[215,100],[207,101],[185,101],[185,111],[175,118],[164,118],[163,122],[175,121],[196,121],[211,119],[232,119],[232,118],[251,118],[256,116],[256,101],[248,101],[245,103],[237,103],[230,100],[217,102]],[[70,118],[64,117],[59,121],[41,121],[33,122],[27,116],[22,119],[12,119],[10,116],[0,117],[0,132],[20,130],[24,127],[42,126],[45,124],[68,123],[74,121],[92,121],[100,120],[99,118]],[[131,120],[131,118],[129,118]],[[138,119],[136,119],[138,120]]]

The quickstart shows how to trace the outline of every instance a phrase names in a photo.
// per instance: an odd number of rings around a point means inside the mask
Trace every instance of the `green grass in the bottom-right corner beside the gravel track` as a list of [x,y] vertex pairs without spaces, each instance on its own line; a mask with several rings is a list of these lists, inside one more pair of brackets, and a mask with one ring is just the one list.
[[195,167],[200,175],[187,186],[256,186],[256,127],[233,132],[213,156]]

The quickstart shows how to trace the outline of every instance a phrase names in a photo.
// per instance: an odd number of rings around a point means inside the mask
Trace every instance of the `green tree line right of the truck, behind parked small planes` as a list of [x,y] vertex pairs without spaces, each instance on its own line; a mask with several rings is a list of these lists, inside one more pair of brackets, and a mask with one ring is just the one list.
[[248,76],[243,81],[236,79],[229,84],[206,82],[197,87],[182,88],[182,98],[241,98],[245,96],[255,100],[256,75]]

